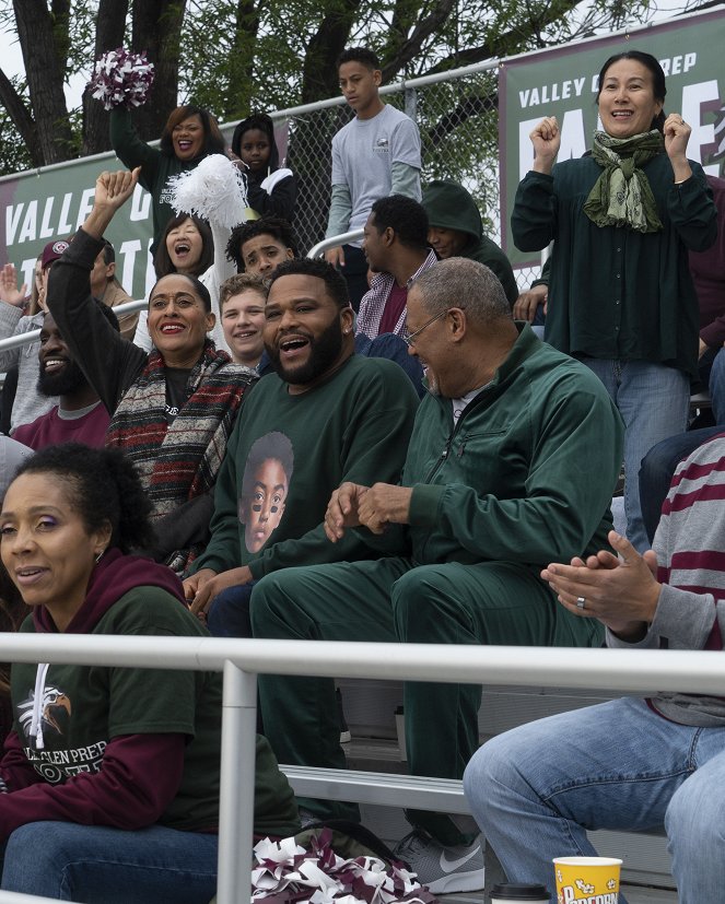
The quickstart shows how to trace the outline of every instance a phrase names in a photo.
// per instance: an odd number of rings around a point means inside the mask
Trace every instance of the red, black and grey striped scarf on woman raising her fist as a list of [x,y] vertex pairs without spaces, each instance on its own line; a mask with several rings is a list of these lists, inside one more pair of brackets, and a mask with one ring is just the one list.
[[[255,381],[253,372],[231,364],[207,340],[189,374],[187,401],[167,424],[164,361],[157,351],[149,355],[110,419],[106,445],[119,446],[136,463],[154,519],[214,485],[237,410]],[[201,547],[177,550],[166,564],[183,571],[200,552]]]

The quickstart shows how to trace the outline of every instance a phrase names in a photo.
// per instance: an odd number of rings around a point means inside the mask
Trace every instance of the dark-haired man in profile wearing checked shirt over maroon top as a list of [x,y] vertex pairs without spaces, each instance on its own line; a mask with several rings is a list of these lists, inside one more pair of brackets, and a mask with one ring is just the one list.
[[437,258],[428,247],[428,216],[412,198],[378,198],[365,223],[363,251],[375,274],[360,303],[355,332],[371,339],[406,333],[408,287]]

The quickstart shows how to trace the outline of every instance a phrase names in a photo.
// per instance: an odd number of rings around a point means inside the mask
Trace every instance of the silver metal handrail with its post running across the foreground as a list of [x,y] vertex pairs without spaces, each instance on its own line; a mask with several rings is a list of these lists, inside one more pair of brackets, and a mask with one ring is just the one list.
[[[725,657],[703,650],[1,634],[0,660],[223,671],[218,904],[247,900],[257,673],[639,693],[720,694],[725,686]],[[0,904],[44,901],[0,891]]]

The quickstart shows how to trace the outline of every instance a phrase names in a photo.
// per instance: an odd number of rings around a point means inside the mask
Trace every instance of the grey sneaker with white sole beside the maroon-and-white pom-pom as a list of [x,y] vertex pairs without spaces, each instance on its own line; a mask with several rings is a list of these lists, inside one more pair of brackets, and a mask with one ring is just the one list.
[[482,891],[483,847],[480,836],[470,845],[444,847],[421,829],[398,842],[395,856],[408,864],[421,885],[433,894]]

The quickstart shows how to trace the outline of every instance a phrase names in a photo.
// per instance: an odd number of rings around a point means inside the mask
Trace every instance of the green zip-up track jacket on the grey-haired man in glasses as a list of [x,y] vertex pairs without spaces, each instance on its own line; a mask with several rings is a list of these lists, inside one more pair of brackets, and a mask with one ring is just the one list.
[[[413,488],[410,525],[396,550],[416,564],[510,561],[538,571],[609,548],[619,412],[587,367],[516,326],[508,356],[455,427],[451,399],[420,404],[402,473]],[[393,532],[382,543],[369,535],[371,544],[391,551]]]

